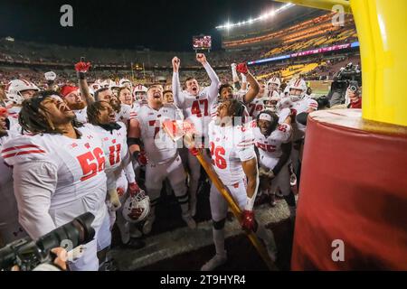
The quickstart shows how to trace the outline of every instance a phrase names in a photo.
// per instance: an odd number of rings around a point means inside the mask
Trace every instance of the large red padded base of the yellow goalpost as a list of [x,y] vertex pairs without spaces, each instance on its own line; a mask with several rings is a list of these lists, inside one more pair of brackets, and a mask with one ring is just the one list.
[[[293,270],[407,270],[407,128],[361,115],[308,117]],[[343,262],[332,259],[336,239]]]

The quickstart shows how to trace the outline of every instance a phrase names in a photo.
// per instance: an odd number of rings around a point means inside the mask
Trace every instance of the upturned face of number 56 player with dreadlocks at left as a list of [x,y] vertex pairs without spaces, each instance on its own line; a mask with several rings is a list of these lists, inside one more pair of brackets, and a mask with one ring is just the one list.
[[71,108],[58,96],[45,98],[41,105],[44,107],[43,114],[48,115],[54,125],[69,123],[75,117]]

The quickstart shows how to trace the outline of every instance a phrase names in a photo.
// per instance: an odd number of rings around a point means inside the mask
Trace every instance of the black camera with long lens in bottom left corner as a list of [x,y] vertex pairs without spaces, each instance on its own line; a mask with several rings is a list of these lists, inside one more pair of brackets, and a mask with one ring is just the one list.
[[21,271],[32,271],[43,263],[52,263],[55,257],[50,253],[52,248],[69,245],[72,249],[94,238],[95,230],[90,226],[93,219],[95,216],[87,212],[36,241],[22,238],[1,248],[0,270],[10,270],[17,265]]

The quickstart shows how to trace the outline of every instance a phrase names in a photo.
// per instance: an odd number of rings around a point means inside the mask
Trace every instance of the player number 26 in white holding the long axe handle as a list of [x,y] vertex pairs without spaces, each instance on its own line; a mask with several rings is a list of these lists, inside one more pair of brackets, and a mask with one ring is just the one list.
[[[272,232],[254,219],[253,204],[259,187],[259,172],[253,135],[250,126],[241,126],[244,106],[236,99],[228,99],[218,107],[218,117],[209,125],[209,140],[213,169],[242,212],[241,227],[255,232],[268,249],[271,260],[276,259]],[[201,269],[213,270],[227,260],[224,249],[224,223],[228,204],[214,185],[210,192],[213,219],[213,243],[216,255]]]

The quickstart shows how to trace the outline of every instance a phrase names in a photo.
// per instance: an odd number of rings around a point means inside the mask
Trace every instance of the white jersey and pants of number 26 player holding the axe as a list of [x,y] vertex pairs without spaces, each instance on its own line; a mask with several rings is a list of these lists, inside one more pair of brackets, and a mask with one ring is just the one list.
[[[213,168],[243,209],[246,205],[247,181],[241,163],[256,158],[252,129],[250,126],[217,126],[213,121],[209,124],[209,141]],[[210,202],[213,220],[224,219],[228,205],[214,185],[211,187]]]

